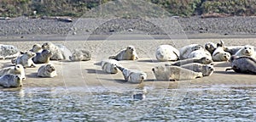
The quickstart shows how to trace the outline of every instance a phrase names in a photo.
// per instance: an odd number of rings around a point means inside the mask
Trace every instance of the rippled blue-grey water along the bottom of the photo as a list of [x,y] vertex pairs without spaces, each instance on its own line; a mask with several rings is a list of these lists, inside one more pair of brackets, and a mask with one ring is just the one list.
[[[78,88],[73,88],[78,90]],[[83,89],[81,89],[83,90]],[[113,92],[96,87],[0,90],[0,121],[254,121],[256,87],[207,87],[188,90],[147,87]],[[185,92],[183,92],[185,91]],[[183,92],[184,94],[177,94]]]

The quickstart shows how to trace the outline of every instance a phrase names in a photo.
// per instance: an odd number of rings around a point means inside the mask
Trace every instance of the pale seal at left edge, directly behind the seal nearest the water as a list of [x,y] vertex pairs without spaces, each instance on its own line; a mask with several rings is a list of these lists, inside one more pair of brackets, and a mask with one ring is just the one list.
[[25,70],[21,64],[0,69],[0,76],[7,74],[20,75],[22,80],[26,80]]

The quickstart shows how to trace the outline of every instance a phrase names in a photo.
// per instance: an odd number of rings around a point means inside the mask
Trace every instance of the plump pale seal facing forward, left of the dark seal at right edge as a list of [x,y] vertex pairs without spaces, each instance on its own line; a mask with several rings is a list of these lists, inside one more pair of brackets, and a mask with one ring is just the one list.
[[217,44],[217,48],[212,53],[213,61],[221,62],[230,60],[230,53],[224,51],[223,44]]

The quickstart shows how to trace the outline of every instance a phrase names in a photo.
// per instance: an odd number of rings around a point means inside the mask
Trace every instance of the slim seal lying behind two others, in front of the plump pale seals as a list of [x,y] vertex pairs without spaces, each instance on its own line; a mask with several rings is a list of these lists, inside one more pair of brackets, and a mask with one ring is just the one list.
[[178,60],[177,62],[174,62],[172,64],[166,64],[166,66],[170,65],[176,65],[176,66],[181,66],[184,64],[190,64],[190,63],[200,63],[200,64],[211,64],[213,61],[211,58],[188,58],[188,59],[183,59],[183,60]]

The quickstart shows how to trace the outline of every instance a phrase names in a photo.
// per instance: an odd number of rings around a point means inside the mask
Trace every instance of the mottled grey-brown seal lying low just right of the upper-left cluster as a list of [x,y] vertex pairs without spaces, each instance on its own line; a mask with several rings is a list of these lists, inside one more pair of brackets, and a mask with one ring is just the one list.
[[71,61],[89,61],[90,58],[90,52],[84,49],[74,50],[72,56],[69,56]]

